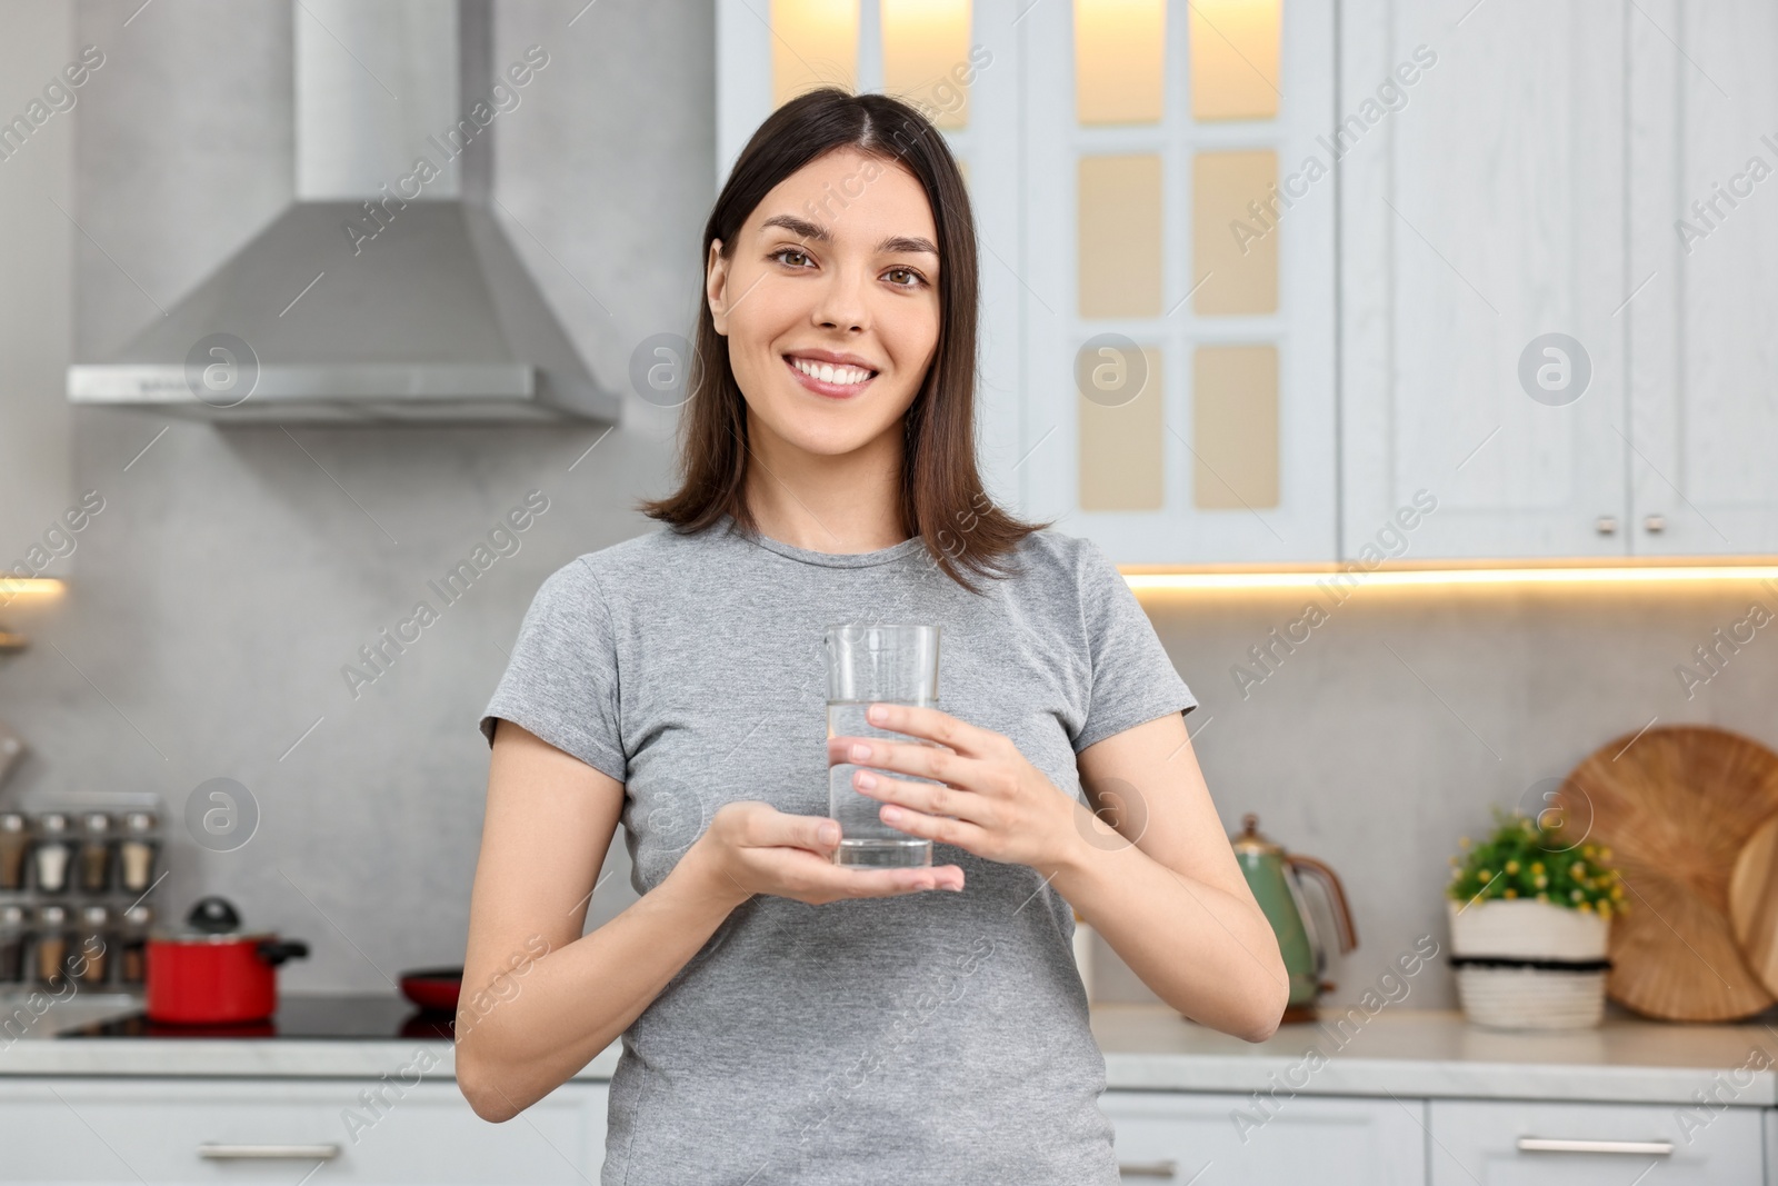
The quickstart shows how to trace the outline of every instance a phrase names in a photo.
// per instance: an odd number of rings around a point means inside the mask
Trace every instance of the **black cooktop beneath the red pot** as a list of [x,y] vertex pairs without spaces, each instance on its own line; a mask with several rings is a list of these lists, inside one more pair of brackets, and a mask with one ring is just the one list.
[[452,1014],[414,1008],[398,996],[324,996],[284,992],[277,1012],[265,1021],[231,1026],[174,1026],[149,1021],[146,1012],[124,1014],[62,1030],[59,1038],[297,1038],[297,1040],[368,1040],[409,1038],[453,1040]]

